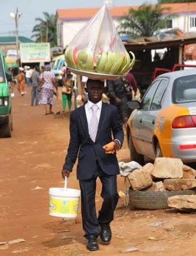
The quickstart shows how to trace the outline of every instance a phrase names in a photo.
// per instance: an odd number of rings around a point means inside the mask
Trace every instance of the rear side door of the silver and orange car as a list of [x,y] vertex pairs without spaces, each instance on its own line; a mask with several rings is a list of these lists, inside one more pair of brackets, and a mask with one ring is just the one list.
[[165,94],[169,84],[168,79],[161,79],[156,91],[154,93],[150,109],[145,112],[145,115],[142,117],[143,124],[143,141],[144,141],[144,150],[145,155],[154,157],[153,149],[153,135],[156,123],[156,117],[162,108],[162,104],[165,99]]

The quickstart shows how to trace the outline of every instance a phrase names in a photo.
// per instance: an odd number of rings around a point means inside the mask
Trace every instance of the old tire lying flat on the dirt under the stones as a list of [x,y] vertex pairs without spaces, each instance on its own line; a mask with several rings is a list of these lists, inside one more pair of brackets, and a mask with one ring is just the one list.
[[168,198],[173,195],[180,194],[195,194],[194,190],[179,190],[179,191],[133,191],[129,188],[129,206],[137,209],[167,209]]

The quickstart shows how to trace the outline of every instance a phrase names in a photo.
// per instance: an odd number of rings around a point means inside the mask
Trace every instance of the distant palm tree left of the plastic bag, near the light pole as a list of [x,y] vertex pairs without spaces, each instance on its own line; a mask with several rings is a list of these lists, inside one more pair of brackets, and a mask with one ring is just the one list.
[[31,38],[35,38],[36,42],[50,42],[51,46],[57,45],[57,28],[55,15],[43,12],[44,18],[36,18],[38,22],[32,29]]

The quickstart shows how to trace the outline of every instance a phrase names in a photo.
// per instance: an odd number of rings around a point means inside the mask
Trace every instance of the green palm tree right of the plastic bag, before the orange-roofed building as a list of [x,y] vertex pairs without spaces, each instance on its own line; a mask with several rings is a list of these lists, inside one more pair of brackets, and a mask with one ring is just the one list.
[[160,5],[140,5],[137,10],[129,9],[128,16],[121,19],[118,31],[121,35],[129,35],[132,38],[150,37],[166,27],[171,17],[164,17],[165,8]]

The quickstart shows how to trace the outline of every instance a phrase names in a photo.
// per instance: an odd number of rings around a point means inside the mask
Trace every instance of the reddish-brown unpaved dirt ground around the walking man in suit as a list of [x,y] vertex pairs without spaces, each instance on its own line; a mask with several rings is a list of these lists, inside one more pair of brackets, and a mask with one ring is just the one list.
[[[63,186],[60,170],[69,141],[69,115],[65,119],[44,116],[42,107],[29,106],[27,93],[23,98],[17,94],[13,99],[13,137],[0,140],[0,242],[17,238],[26,242],[0,245],[0,255],[90,255],[85,248],[80,213],[75,222],[48,215],[48,188]],[[60,100],[54,110],[59,107]],[[128,161],[128,156],[125,143],[119,160]],[[33,190],[37,186],[41,189]],[[69,186],[78,188],[75,168]],[[119,190],[124,190],[121,177]],[[97,208],[102,202],[99,192],[98,182]],[[163,222],[162,225],[149,226],[157,221]],[[100,245],[100,251],[92,252],[93,255],[196,254],[194,214],[173,210],[131,211],[120,200],[111,228],[111,244]],[[130,247],[139,251],[121,252]]]

